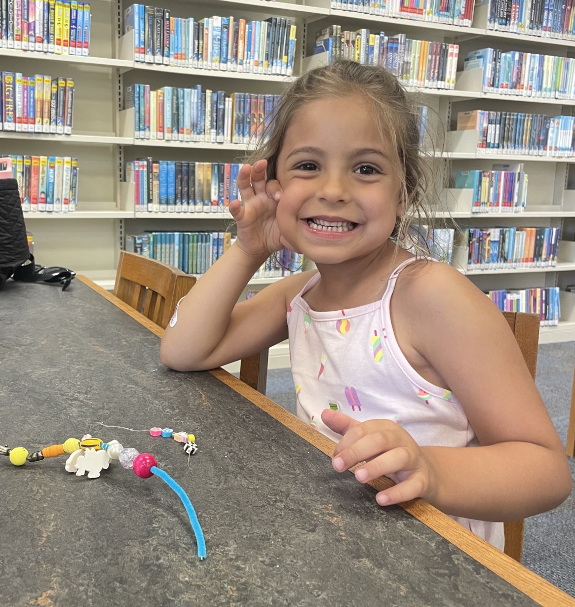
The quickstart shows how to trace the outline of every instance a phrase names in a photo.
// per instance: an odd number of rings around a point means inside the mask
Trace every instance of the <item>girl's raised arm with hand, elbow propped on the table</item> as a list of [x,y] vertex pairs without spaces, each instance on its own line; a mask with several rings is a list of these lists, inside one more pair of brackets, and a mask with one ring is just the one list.
[[230,205],[237,223],[236,243],[198,280],[177,308],[173,326],[166,328],[160,359],[168,367],[218,367],[287,337],[288,298],[304,285],[305,276],[281,280],[237,304],[255,271],[286,245],[277,229],[277,203],[266,190],[265,169],[265,161],[240,169],[237,184],[243,202]]

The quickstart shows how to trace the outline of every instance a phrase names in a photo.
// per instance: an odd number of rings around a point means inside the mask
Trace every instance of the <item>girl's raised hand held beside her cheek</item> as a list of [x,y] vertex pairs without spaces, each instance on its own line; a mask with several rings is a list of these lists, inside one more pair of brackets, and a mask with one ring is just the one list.
[[266,183],[267,160],[244,164],[237,175],[237,188],[242,202],[233,200],[230,212],[237,223],[237,243],[253,256],[269,255],[288,246],[276,221],[277,200],[281,196],[279,182]]

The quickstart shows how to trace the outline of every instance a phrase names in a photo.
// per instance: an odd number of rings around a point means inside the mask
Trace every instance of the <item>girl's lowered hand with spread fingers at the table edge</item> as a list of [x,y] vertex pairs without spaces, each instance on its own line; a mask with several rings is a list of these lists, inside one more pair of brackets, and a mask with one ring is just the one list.
[[409,433],[395,422],[390,419],[359,422],[332,409],[325,409],[321,419],[333,432],[343,435],[332,458],[338,472],[365,461],[355,470],[360,483],[396,475],[398,483],[375,496],[380,506],[426,498],[433,492],[434,475],[429,461]]

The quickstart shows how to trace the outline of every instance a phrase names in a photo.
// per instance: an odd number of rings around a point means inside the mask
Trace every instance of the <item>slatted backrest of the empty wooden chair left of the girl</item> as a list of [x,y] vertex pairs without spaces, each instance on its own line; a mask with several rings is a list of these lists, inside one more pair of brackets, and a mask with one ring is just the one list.
[[196,277],[182,270],[149,257],[122,251],[114,295],[165,329],[177,302],[195,284]]

